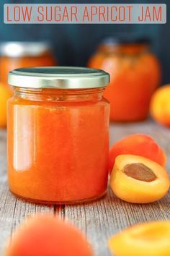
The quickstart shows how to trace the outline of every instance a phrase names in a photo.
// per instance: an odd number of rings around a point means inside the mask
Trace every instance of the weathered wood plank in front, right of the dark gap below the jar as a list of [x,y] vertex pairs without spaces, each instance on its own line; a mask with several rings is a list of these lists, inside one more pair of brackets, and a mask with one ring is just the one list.
[[106,197],[86,205],[65,207],[65,216],[84,231],[96,256],[107,256],[107,239],[136,223],[170,220],[170,193],[164,199],[147,205],[119,200],[109,190]]

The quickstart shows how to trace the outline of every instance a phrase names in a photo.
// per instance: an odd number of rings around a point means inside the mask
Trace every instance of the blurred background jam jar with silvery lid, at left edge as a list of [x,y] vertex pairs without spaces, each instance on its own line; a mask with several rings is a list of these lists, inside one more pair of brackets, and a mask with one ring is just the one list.
[[19,67],[53,66],[56,61],[50,43],[5,42],[0,44],[0,80],[7,85],[8,72]]

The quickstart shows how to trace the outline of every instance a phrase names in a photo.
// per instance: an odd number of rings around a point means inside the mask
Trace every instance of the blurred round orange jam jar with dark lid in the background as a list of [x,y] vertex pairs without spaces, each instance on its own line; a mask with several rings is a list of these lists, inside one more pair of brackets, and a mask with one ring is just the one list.
[[161,82],[160,64],[148,40],[106,38],[88,66],[110,74],[104,98],[111,105],[111,121],[146,119],[151,95]]

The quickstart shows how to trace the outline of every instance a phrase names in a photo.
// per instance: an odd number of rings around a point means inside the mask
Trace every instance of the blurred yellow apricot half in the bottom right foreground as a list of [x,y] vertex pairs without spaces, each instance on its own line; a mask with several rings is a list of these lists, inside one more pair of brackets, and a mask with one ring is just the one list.
[[169,256],[170,221],[132,226],[112,236],[108,246],[116,256]]

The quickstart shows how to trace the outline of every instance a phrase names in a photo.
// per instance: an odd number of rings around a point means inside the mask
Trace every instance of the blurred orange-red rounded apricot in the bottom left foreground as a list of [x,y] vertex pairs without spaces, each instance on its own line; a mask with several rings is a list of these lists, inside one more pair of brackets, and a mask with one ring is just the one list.
[[92,256],[91,247],[76,227],[56,216],[38,215],[25,221],[6,256]]

